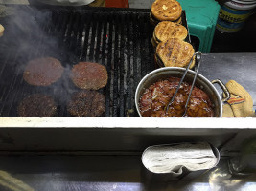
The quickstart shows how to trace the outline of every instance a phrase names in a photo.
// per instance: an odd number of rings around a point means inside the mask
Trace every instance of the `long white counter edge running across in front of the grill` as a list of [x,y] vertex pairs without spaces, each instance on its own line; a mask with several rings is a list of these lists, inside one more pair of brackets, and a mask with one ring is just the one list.
[[256,117],[141,118],[141,117],[1,117],[0,128],[224,128],[256,129]]

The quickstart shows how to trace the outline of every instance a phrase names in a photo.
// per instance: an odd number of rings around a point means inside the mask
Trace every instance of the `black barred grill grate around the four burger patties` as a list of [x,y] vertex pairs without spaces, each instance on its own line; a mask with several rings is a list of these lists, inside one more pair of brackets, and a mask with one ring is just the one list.
[[[149,10],[83,8],[35,10],[19,6],[6,18],[0,39],[0,117],[17,117],[17,105],[26,96],[47,93],[58,104],[56,117],[70,117],[66,110],[72,93],[80,91],[68,74],[79,61],[105,65],[108,82],[103,117],[138,117],[134,95],[140,79],[154,69]],[[23,81],[26,63],[52,56],[65,73],[49,87]]]

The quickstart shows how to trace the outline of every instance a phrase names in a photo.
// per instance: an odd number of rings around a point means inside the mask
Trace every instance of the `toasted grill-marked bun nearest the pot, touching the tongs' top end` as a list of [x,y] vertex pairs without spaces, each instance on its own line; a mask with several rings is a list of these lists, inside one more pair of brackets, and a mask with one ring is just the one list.
[[[193,46],[178,38],[170,38],[160,42],[156,54],[166,67],[187,67],[195,50]],[[195,60],[190,68],[195,65]]]

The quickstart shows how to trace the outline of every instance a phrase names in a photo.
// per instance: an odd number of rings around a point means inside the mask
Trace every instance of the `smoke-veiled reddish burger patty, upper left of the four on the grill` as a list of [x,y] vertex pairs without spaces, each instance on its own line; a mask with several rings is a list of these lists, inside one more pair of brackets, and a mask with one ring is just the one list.
[[23,73],[26,82],[34,86],[49,86],[56,82],[64,69],[53,57],[37,58],[29,61]]

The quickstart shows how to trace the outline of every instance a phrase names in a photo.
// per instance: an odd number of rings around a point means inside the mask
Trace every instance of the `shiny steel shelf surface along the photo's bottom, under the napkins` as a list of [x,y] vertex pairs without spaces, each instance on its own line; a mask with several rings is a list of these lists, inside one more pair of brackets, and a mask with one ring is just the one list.
[[[182,179],[151,174],[140,156],[0,156],[0,189],[4,182],[19,181],[40,191],[55,190],[255,190],[256,177],[230,174],[227,159],[216,168],[191,172]],[[13,184],[12,184],[13,185]],[[14,185],[17,185],[14,183]]]

